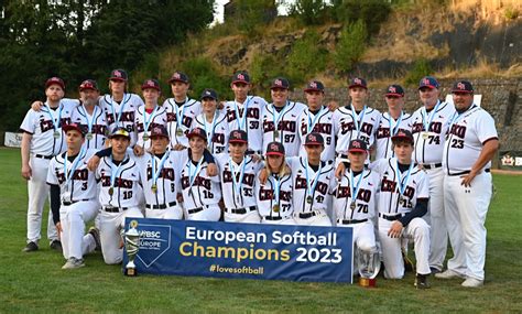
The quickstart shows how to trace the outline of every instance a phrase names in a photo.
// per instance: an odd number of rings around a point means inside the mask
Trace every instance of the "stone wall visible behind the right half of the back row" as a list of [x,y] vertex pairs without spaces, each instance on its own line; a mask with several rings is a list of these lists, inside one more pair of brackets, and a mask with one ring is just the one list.
[[[442,99],[450,91],[455,80],[441,80]],[[481,106],[494,118],[500,136],[500,152],[522,152],[522,79],[475,79],[476,94],[482,95]],[[384,88],[370,88],[369,106],[387,110]],[[302,90],[294,90],[292,99],[304,102]],[[348,102],[347,88],[326,90],[326,101],[336,100],[340,106]],[[406,88],[405,109],[414,111],[418,108],[418,95],[415,87]]]

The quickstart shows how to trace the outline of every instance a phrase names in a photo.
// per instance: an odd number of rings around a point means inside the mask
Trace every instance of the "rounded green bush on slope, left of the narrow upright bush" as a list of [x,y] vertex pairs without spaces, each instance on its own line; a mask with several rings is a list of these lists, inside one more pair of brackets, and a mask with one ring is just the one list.
[[287,76],[294,87],[325,69],[328,52],[318,44],[320,36],[312,31],[294,43],[286,66]]

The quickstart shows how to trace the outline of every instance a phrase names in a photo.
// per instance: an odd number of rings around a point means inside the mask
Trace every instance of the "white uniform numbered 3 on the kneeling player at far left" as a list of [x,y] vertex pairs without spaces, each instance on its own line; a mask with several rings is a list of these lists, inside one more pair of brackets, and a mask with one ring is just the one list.
[[99,212],[96,177],[87,169],[94,150],[85,148],[70,158],[67,153],[54,156],[48,165],[47,184],[59,185],[62,225],[62,248],[65,259],[83,259],[84,255],[96,249],[91,235],[85,235],[86,223]]

